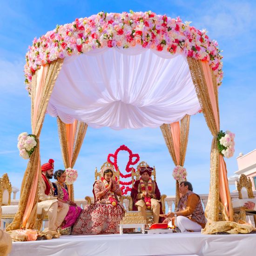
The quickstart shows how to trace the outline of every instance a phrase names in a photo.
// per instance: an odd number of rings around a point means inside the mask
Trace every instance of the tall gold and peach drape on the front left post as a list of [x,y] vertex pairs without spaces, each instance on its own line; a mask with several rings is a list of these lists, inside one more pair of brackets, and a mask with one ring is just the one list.
[[[35,106],[35,97],[39,94],[36,92],[38,90],[38,72],[37,70],[35,74],[32,76],[32,93],[31,93],[31,126],[32,133],[36,135],[37,138],[37,147],[34,150],[34,153],[31,155],[28,163],[27,169],[25,171],[21,189],[20,189],[20,201],[19,201],[19,209],[16,213],[13,222],[7,227],[7,230],[20,229],[22,227],[22,219],[28,205],[29,195],[31,193],[31,189],[33,185],[37,186],[36,191],[38,191],[38,179],[41,178],[41,172],[37,174],[38,165],[40,166],[40,142],[39,137],[41,133],[41,129],[43,126],[43,121],[45,118],[46,108],[50,96],[52,94],[55,81],[58,77],[58,74],[61,70],[63,64],[63,59],[58,59],[56,61],[47,64],[46,75],[44,76],[44,81],[41,86],[41,91],[39,95],[39,104]],[[42,67],[41,67],[42,68]],[[37,110],[37,113],[34,111]],[[40,169],[40,168],[39,168]],[[30,193],[29,193],[30,192]],[[33,209],[36,209],[37,201],[38,201],[38,193],[36,192],[33,202]],[[30,210],[31,213],[31,210]],[[36,210],[33,211],[34,216],[29,216],[29,223],[25,220],[23,221],[23,227],[33,228],[36,220]],[[27,223],[26,223],[27,222]]]

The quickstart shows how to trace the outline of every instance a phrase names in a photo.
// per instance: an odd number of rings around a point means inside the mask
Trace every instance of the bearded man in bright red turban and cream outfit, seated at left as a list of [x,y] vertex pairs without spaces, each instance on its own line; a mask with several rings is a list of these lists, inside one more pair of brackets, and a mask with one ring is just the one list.
[[42,178],[39,183],[38,206],[43,209],[43,217],[48,214],[49,226],[44,231],[57,231],[67,215],[69,205],[63,200],[54,196],[53,183],[49,179],[54,175],[54,160],[50,159],[41,166]]

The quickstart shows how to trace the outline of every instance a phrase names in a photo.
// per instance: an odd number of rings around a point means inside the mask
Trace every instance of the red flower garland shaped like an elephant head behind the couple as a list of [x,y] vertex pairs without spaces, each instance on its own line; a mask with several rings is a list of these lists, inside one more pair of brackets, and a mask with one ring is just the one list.
[[[126,172],[129,172],[129,174],[126,174],[126,175],[123,175],[121,173],[121,171],[119,170],[120,172],[120,176],[121,178],[128,178],[128,177],[131,177],[132,175],[132,172],[135,171],[135,169],[133,167],[130,167],[131,165],[135,165],[137,162],[140,161],[140,156],[138,154],[133,154],[133,152],[125,145],[121,145],[119,148],[117,148],[115,150],[115,154],[108,154],[108,158],[107,158],[107,161],[109,163],[111,163],[114,167],[115,167],[115,170],[117,171],[119,168],[118,168],[118,165],[117,165],[117,155],[120,151],[127,151],[129,153],[129,160],[128,160],[128,163],[126,165]],[[111,160],[111,158],[114,159],[114,162]],[[135,159],[135,160],[133,160]],[[127,195],[128,191],[131,191],[131,187],[129,187],[129,185],[132,184],[132,181],[130,182],[123,182],[123,181],[119,181],[119,183],[121,185],[127,185],[126,187],[125,186],[121,186],[121,191],[122,191],[122,194],[124,195]]]

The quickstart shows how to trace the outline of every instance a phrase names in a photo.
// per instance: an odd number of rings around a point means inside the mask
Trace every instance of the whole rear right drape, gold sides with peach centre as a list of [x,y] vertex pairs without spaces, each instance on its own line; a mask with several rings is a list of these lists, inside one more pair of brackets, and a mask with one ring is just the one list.
[[[174,122],[161,126],[162,135],[169,150],[169,153],[176,165],[184,165],[189,138],[190,115],[185,115],[181,123]],[[179,182],[176,181],[175,208],[180,200]]]

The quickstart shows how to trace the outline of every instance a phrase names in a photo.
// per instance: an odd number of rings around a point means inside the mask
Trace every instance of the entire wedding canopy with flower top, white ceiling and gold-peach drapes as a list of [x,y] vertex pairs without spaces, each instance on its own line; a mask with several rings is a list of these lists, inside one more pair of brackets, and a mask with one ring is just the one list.
[[[205,31],[151,11],[100,12],[34,39],[26,54],[25,82],[37,147],[7,229],[35,225],[46,113],[57,117],[63,162],[72,168],[88,126],[160,127],[175,165],[183,166],[189,117],[202,111],[213,136],[205,214],[208,223],[232,221],[226,165],[217,149],[221,60],[217,42]],[[72,185],[69,191],[74,198]]]

